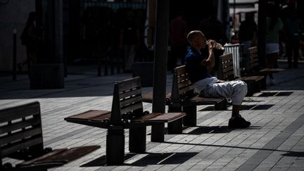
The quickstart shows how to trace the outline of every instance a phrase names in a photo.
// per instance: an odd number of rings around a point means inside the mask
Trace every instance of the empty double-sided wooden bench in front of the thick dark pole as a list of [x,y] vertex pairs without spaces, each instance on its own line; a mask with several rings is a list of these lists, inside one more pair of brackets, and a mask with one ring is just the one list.
[[[68,122],[108,129],[106,163],[122,164],[125,160],[125,134],[129,129],[129,151],[146,151],[146,126],[168,122],[168,129],[182,133],[185,113],[148,113],[143,109],[139,77],[115,82],[111,111],[89,110],[65,118]],[[170,123],[169,123],[170,122]],[[170,128],[169,128],[170,127]],[[164,132],[152,132],[164,137]]]

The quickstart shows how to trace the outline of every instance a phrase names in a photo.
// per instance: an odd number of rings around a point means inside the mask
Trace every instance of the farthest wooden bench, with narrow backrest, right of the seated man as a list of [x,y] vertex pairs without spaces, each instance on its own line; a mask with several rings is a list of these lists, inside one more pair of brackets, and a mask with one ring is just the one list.
[[265,79],[262,80],[263,88],[266,88],[266,76],[268,74],[274,74],[285,70],[284,68],[263,68],[262,70],[260,70],[260,65],[258,63],[257,46],[248,48],[248,60],[249,60],[249,67],[246,68],[246,75],[264,75]]

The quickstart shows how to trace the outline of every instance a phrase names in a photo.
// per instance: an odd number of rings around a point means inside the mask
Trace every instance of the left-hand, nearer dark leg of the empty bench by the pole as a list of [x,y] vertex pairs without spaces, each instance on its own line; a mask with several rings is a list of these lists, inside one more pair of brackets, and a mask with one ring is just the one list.
[[124,129],[108,129],[106,137],[106,163],[119,165],[125,161]]

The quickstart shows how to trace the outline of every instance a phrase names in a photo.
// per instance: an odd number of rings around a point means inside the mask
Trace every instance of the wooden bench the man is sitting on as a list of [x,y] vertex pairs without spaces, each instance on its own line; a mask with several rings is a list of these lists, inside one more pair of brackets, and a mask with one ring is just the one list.
[[[144,94],[144,101],[151,103],[153,92]],[[214,105],[215,110],[226,110],[227,99],[223,97],[202,97],[194,92],[186,66],[182,65],[174,70],[172,91],[166,93],[166,105],[168,112],[184,112],[186,116],[183,118],[184,126],[196,126],[197,106]]]

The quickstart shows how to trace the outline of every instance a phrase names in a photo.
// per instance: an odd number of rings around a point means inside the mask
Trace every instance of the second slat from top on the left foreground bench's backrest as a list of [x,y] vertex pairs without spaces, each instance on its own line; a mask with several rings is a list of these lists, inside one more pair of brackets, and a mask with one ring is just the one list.
[[0,134],[4,134],[6,132],[12,132],[17,129],[23,129],[31,125],[39,125],[39,124],[41,124],[40,118],[30,118],[26,122],[14,122],[12,124],[1,127]]

